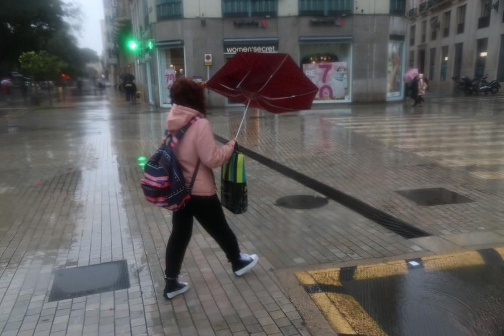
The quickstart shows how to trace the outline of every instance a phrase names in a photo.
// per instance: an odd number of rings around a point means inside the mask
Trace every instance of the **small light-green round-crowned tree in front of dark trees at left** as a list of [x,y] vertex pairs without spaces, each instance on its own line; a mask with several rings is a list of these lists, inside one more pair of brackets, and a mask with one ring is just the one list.
[[[19,63],[23,71],[32,76],[35,83],[41,80],[49,81],[56,79],[61,71],[68,66],[59,57],[47,51],[40,51],[38,53],[35,51],[23,52],[19,57]],[[47,85],[47,87],[49,90],[49,103],[52,105],[51,86]],[[37,85],[35,85],[35,99],[38,104]]]

